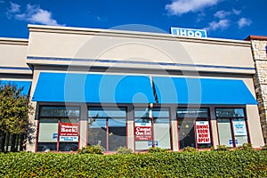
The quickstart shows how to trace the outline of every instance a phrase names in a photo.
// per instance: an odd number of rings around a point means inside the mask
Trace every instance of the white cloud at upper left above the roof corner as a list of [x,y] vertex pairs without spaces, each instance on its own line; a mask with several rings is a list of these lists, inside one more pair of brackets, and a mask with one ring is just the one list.
[[[12,9],[12,4],[11,4],[10,9]],[[12,17],[14,17],[16,20],[24,20],[24,21],[28,21],[31,23],[39,23],[39,24],[44,24],[44,25],[60,26],[57,20],[53,19],[52,12],[49,12],[49,11],[46,11],[40,8],[39,5],[27,4],[27,7],[24,13],[20,13],[20,11],[14,11],[12,13],[8,11],[8,13],[9,15],[12,15]]]

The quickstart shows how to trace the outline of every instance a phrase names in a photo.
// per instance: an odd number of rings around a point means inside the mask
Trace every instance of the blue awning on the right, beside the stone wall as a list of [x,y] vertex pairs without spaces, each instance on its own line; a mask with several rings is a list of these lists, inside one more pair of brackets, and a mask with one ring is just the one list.
[[242,80],[153,77],[158,103],[257,104]]

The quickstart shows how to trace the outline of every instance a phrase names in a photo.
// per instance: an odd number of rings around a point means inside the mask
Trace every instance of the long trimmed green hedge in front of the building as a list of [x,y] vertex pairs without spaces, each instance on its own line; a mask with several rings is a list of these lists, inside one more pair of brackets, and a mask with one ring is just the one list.
[[267,177],[267,150],[2,153],[0,177]]

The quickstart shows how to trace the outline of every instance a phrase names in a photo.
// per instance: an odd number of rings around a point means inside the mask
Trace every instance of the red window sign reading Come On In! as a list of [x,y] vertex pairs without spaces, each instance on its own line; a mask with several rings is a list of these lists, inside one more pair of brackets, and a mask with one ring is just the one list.
[[134,126],[135,141],[152,141],[151,125],[135,125]]

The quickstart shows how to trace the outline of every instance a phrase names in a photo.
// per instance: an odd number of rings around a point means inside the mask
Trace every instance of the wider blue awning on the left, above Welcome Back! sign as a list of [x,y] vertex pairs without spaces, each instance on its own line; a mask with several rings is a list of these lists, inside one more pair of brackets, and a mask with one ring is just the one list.
[[40,73],[32,101],[151,103],[150,77]]

